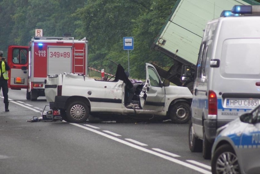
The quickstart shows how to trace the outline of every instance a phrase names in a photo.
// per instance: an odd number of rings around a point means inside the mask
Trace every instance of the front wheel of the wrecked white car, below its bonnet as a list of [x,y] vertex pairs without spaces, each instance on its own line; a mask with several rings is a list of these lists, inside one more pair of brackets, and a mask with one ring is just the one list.
[[172,123],[187,123],[190,120],[190,105],[186,102],[177,102],[170,109]]

